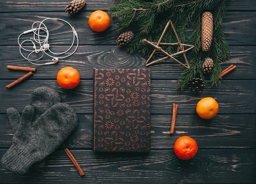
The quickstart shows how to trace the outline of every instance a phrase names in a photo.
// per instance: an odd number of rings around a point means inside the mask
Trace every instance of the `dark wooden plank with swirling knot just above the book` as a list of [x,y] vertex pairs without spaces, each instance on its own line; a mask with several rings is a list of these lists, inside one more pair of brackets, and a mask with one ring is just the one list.
[[[59,50],[65,50],[63,46]],[[93,68],[145,68],[146,58],[139,54],[130,54],[117,46],[83,46],[80,45],[76,53],[67,59],[59,59],[59,62],[48,66],[35,66],[24,59],[17,46],[0,46],[0,79],[16,80],[24,72],[8,70],[7,65],[27,66],[37,68],[33,79],[56,79],[58,70],[65,66],[76,68],[82,79],[92,79]],[[256,53],[256,46],[230,46],[231,59],[223,62],[222,69],[231,64],[237,68],[223,79],[256,79],[256,65],[252,64]],[[189,56],[189,55],[188,55]],[[189,57],[188,57],[189,58]],[[50,62],[52,58],[45,57],[40,62]],[[147,67],[151,70],[151,79],[177,80],[185,69],[171,59]],[[206,79],[209,76],[206,75]]]

